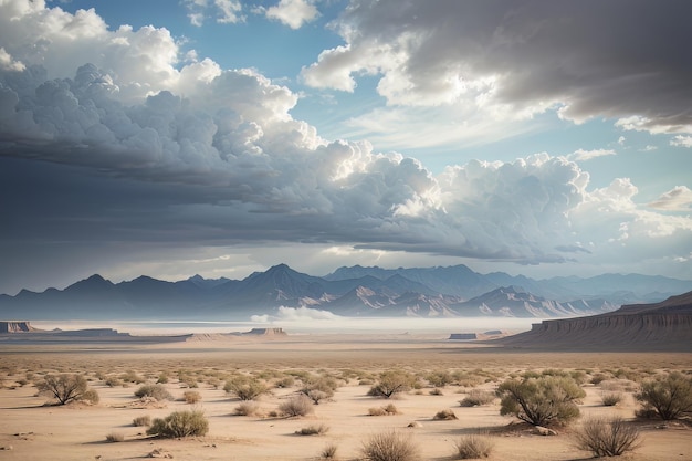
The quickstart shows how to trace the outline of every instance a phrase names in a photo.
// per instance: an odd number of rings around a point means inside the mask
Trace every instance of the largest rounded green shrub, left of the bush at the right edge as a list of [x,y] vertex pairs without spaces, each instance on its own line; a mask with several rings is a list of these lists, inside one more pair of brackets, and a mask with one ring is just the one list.
[[507,379],[497,392],[501,415],[514,415],[534,426],[568,422],[579,416],[577,402],[586,392],[570,377],[541,376]]

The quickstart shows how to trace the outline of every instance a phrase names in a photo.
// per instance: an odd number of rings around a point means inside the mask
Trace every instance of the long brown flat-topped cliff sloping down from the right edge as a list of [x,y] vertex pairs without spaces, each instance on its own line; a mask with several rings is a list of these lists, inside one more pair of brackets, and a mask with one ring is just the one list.
[[692,292],[601,315],[544,321],[500,342],[528,348],[692,350]]

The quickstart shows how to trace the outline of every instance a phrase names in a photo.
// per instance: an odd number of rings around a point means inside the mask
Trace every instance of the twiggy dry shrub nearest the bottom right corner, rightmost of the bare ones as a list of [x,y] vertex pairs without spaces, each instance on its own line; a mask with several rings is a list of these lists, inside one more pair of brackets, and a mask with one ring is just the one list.
[[619,457],[639,446],[639,430],[622,418],[591,418],[575,431],[576,447],[595,457]]

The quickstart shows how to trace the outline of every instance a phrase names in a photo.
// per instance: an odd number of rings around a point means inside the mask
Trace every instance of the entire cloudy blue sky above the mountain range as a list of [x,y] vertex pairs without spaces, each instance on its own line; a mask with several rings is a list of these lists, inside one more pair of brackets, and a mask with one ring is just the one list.
[[0,0],[0,293],[692,280],[692,2]]

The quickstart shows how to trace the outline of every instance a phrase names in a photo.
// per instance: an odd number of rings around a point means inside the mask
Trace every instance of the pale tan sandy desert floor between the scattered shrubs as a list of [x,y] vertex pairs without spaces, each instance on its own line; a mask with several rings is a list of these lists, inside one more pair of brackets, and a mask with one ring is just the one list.
[[[395,416],[368,416],[368,410],[389,400],[368,397],[370,383],[378,373],[402,368],[426,376],[450,370],[480,376],[472,386],[448,385],[441,395],[421,380],[419,389],[400,395],[391,402]],[[530,428],[500,416],[494,404],[465,408],[459,401],[473,387],[492,390],[511,374],[544,368],[583,370],[611,375],[620,369],[630,374],[656,370],[692,370],[690,353],[551,353],[475,347],[434,335],[304,335],[277,338],[237,338],[168,345],[1,345],[0,346],[0,460],[136,460],[159,451],[177,460],[317,460],[328,444],[337,446],[337,459],[358,460],[363,442],[374,433],[396,430],[419,447],[421,460],[455,459],[454,441],[462,434],[487,431],[494,442],[490,460],[586,460],[591,455],[574,447],[570,427],[558,434],[533,434]],[[263,416],[233,416],[239,400],[228,396],[219,379],[231,373],[255,374],[273,383],[289,371],[339,377],[339,388],[329,401],[314,406],[314,415],[301,418],[269,416],[295,395],[296,380],[289,388],[273,388],[259,399]],[[44,406],[33,381],[44,373],[86,374],[97,390],[97,405]],[[161,373],[170,377],[165,385],[177,398],[160,406],[144,406],[134,396],[139,385],[107,386],[106,377],[137,375],[155,383]],[[201,401],[181,400],[187,385],[180,375],[193,376]],[[271,376],[274,376],[272,378]],[[368,381],[370,379],[370,381]],[[23,383],[27,381],[27,383]],[[365,381],[361,383],[361,381]],[[608,379],[604,383],[615,383]],[[633,419],[638,408],[631,381],[622,378],[625,401],[605,407],[600,396],[604,383],[585,385],[587,397],[580,405],[583,416],[617,415]],[[629,383],[629,384],[628,384]],[[209,419],[206,437],[162,440],[146,436],[146,428],[134,427],[138,416],[159,418],[181,409],[202,409]],[[451,409],[458,420],[433,420]],[[421,425],[408,428],[413,421]],[[325,425],[319,436],[295,432],[313,425]],[[578,426],[578,421],[575,423]],[[660,421],[636,422],[642,443],[623,457],[632,461],[692,460],[692,428]],[[107,442],[106,436],[119,433],[123,442]]]

